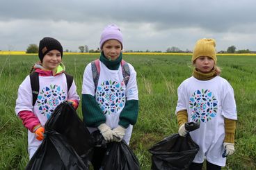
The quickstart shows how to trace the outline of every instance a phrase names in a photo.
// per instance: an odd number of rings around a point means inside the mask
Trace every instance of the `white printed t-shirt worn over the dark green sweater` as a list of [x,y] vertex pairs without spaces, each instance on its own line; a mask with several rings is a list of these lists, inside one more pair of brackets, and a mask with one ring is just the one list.
[[[96,92],[91,63],[86,66],[83,73],[82,94],[95,96],[99,108],[102,110],[102,114],[106,117],[106,124],[112,129],[118,126],[120,112],[125,107],[125,101],[138,100],[136,71],[134,67],[130,64],[128,65],[130,78],[127,86],[125,86],[121,65],[118,70],[111,70],[102,62],[99,62],[100,74]],[[88,129],[91,133],[97,130],[97,128]],[[131,138],[131,132],[132,126],[129,125],[125,131],[125,137],[123,138],[127,144],[129,144]]]

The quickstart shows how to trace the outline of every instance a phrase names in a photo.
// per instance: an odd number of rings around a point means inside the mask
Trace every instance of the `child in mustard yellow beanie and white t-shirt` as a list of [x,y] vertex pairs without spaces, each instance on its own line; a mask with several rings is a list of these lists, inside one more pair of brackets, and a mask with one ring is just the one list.
[[195,44],[192,63],[193,76],[179,85],[177,121],[179,135],[185,136],[186,122],[200,122],[200,128],[190,132],[200,151],[190,169],[202,169],[207,160],[207,169],[225,167],[225,156],[234,153],[234,131],[237,109],[234,91],[216,66],[215,40],[201,39]]

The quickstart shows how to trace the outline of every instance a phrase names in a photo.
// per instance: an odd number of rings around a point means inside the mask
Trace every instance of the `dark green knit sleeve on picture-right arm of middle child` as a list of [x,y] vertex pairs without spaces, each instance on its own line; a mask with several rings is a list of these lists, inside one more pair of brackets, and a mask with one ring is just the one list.
[[138,100],[129,100],[125,102],[125,108],[120,113],[119,125],[128,128],[129,124],[136,124],[138,118]]

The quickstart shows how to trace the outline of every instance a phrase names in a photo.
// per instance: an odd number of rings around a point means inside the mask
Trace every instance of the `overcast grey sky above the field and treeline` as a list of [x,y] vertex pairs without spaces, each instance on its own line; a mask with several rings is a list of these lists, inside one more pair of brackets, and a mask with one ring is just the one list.
[[107,24],[117,24],[124,49],[192,50],[196,40],[216,40],[256,51],[255,0],[0,0],[0,50],[26,51],[42,37],[63,49],[97,49]]

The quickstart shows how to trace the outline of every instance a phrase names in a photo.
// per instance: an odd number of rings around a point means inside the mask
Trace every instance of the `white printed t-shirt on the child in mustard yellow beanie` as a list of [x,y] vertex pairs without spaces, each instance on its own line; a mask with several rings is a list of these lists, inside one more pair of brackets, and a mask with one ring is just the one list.
[[193,162],[208,162],[225,167],[226,158],[223,141],[225,137],[224,117],[237,119],[234,90],[224,78],[216,76],[211,80],[187,78],[178,87],[176,113],[187,110],[188,121],[200,121],[200,128],[190,133],[200,146]]

